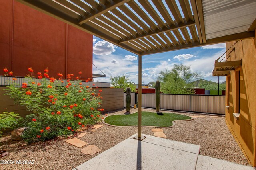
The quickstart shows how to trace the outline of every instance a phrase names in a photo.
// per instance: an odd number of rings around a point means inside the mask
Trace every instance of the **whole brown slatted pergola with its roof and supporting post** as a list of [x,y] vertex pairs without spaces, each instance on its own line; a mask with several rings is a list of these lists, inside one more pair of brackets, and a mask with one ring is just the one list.
[[139,57],[253,38],[255,0],[17,0]]

